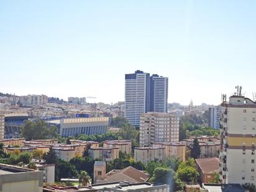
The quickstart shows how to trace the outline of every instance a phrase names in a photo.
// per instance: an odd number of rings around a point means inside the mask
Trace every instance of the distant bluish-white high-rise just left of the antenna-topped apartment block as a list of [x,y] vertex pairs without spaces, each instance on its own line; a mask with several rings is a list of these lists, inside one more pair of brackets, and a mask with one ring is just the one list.
[[209,127],[219,129],[221,125],[221,106],[209,107]]

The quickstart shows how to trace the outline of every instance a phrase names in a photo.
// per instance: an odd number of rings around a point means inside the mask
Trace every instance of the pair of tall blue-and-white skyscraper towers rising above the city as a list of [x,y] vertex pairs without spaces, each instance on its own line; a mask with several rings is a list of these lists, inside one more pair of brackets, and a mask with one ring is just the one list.
[[149,111],[167,112],[168,78],[150,76],[144,71],[126,74],[125,117],[135,127],[140,125],[140,115]]

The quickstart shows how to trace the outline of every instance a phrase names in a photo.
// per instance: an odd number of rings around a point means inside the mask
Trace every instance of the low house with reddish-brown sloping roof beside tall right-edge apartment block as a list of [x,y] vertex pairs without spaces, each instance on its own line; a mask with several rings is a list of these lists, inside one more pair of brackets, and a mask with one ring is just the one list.
[[219,158],[196,158],[196,169],[202,183],[213,183],[214,175],[219,173]]

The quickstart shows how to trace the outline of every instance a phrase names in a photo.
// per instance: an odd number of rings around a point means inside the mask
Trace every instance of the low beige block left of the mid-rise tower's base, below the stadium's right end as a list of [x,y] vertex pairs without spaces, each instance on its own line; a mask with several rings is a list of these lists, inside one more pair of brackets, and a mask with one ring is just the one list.
[[132,141],[131,140],[105,140],[103,147],[118,147],[119,151],[123,153],[132,153]]

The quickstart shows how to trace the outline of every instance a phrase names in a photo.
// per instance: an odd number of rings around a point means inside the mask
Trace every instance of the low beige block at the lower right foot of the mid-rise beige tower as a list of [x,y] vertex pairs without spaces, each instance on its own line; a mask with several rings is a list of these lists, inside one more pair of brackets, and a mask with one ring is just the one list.
[[182,142],[155,142],[153,147],[164,147],[164,156],[167,158],[178,158],[183,162],[186,160],[186,145]]

